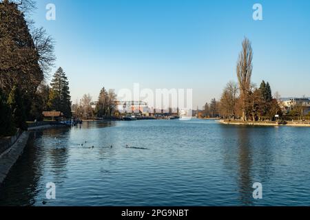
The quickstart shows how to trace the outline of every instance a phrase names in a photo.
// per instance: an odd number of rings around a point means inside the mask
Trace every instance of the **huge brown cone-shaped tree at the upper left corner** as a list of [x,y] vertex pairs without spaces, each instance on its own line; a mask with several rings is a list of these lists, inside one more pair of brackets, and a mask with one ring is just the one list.
[[32,36],[16,3],[0,3],[0,87],[8,93],[19,85],[32,94],[43,80]]

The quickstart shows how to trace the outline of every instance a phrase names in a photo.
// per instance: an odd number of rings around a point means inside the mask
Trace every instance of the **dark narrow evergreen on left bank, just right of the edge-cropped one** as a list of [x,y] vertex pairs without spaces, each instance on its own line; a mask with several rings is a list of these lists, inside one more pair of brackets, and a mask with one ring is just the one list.
[[8,96],[8,105],[12,111],[12,117],[14,119],[15,127],[22,130],[26,130],[27,123],[26,123],[25,108],[21,97],[22,96],[19,87],[14,85],[12,91],[10,92],[10,95]]

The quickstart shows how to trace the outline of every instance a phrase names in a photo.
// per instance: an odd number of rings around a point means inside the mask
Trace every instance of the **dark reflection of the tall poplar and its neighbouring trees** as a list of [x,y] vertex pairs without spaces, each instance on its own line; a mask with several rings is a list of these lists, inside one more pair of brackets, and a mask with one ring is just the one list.
[[[265,188],[273,175],[281,135],[277,128],[251,126],[222,126],[223,166],[229,170],[238,191],[238,202],[245,206],[260,205],[261,200],[253,198],[252,188],[260,182]],[[267,189],[267,188],[265,188]],[[265,192],[265,191],[264,191]]]

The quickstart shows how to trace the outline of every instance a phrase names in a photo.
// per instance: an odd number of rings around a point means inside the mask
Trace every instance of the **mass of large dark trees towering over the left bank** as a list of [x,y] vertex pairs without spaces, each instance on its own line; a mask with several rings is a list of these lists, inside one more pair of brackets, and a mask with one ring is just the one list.
[[30,19],[34,8],[31,0],[0,1],[0,136],[37,117],[41,83],[56,60],[52,37]]

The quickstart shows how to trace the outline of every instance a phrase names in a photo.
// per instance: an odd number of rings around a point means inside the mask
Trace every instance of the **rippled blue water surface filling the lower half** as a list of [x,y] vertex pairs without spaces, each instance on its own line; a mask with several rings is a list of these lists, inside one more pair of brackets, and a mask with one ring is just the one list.
[[310,206],[309,159],[310,128],[88,122],[33,133],[0,206],[43,206],[48,182],[45,206]]

